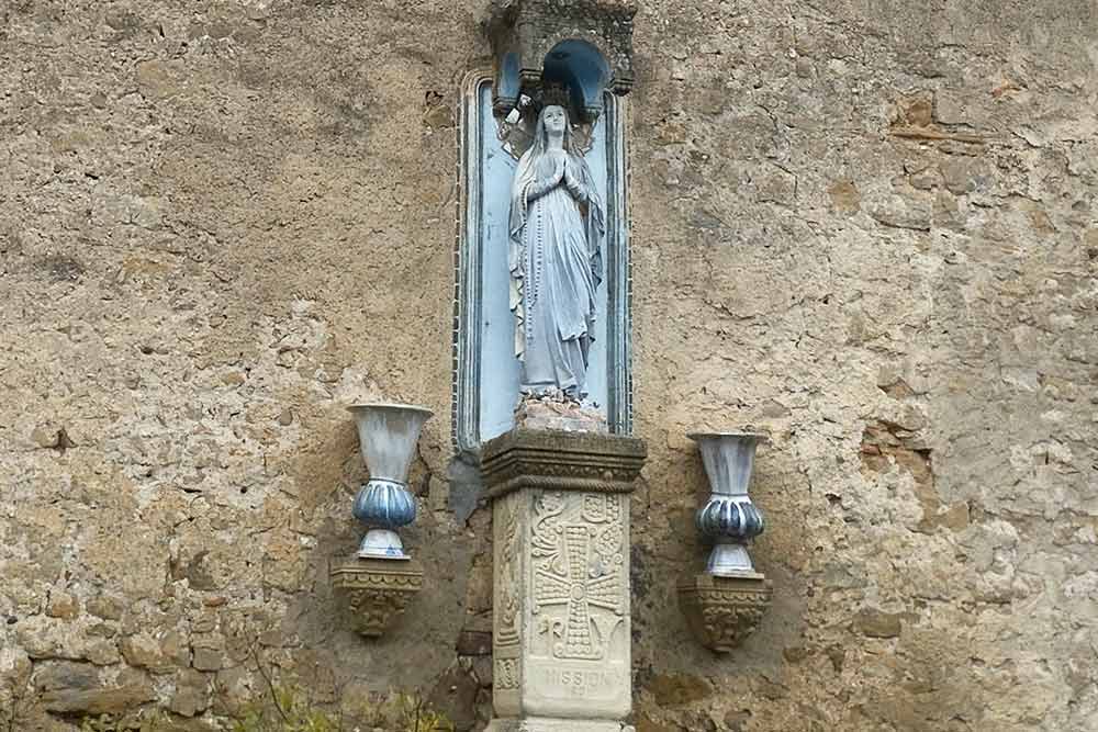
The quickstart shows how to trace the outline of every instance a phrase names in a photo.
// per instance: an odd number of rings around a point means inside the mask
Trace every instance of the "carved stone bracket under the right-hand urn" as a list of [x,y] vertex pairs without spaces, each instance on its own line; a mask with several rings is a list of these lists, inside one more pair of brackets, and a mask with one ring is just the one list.
[[699,574],[679,583],[679,605],[702,645],[728,653],[754,632],[773,588],[761,574],[718,577]]

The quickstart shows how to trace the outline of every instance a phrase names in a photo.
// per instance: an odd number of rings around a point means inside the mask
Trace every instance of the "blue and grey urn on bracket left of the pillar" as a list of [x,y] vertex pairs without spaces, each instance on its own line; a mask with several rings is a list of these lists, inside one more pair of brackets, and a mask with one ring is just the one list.
[[407,560],[396,529],[415,520],[407,489],[408,468],[430,409],[411,404],[355,404],[362,459],[370,480],[358,491],[351,513],[368,528],[358,548],[362,559]]

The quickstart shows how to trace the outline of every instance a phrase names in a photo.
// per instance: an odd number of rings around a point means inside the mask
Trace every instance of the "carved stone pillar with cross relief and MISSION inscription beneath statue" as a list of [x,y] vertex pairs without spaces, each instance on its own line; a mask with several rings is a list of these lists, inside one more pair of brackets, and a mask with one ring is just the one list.
[[515,429],[484,446],[495,539],[490,732],[619,732],[632,702],[636,438]]

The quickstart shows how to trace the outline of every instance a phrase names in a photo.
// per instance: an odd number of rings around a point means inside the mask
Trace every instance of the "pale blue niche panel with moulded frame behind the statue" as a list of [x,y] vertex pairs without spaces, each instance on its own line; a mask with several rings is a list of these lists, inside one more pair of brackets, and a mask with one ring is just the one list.
[[[548,58],[546,72],[548,78]],[[578,81],[573,79],[570,86]],[[519,363],[514,353],[507,271],[511,183],[517,159],[500,138],[492,97],[489,74],[473,75],[467,81],[456,256],[453,436],[459,452],[471,453],[485,440],[511,429],[518,399]],[[631,383],[623,102],[609,93],[600,102],[602,114],[592,127],[586,159],[606,201],[606,272],[598,290],[587,378],[590,401],[606,415],[610,430],[628,433]]]

